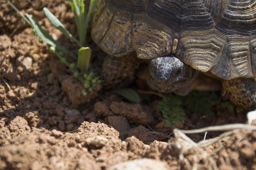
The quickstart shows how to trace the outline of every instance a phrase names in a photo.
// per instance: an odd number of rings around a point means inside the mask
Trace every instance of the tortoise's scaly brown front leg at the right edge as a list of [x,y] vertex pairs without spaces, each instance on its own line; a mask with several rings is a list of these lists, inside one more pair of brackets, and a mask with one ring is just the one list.
[[256,109],[256,79],[236,78],[222,81],[222,95],[244,109]]

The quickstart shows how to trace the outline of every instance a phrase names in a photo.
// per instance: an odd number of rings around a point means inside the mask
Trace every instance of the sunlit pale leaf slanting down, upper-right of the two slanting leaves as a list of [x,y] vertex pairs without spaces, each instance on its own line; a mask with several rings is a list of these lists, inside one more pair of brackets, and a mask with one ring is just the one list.
[[51,24],[57,28],[58,30],[60,30],[66,37],[68,37],[70,39],[71,42],[75,42],[77,44],[80,44],[80,42],[74,38],[69,32],[68,30],[66,30],[66,28],[63,26],[63,24],[60,22],[60,20],[58,20],[58,18],[56,18],[46,7],[43,8],[44,14],[46,15],[46,17],[48,18],[48,20],[51,22]]

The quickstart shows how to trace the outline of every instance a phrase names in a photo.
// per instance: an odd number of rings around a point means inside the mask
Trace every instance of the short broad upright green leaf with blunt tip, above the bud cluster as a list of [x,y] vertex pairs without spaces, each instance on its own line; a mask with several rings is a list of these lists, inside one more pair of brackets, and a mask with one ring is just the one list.
[[82,47],[78,50],[77,65],[81,72],[88,70],[91,53],[92,53],[92,49],[90,49],[89,47]]

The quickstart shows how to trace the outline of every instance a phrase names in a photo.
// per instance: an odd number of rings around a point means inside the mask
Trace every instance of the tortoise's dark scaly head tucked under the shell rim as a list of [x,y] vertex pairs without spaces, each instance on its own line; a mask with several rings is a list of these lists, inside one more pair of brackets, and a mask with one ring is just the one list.
[[149,64],[148,84],[151,88],[168,93],[188,86],[198,73],[174,55],[152,59]]

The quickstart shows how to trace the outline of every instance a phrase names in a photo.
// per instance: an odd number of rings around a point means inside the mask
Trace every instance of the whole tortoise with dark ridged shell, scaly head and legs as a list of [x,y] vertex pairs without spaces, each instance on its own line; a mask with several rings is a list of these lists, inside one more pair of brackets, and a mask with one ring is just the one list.
[[[91,36],[108,54],[109,85],[128,85],[148,61],[153,89],[184,95],[204,74],[230,101],[256,109],[255,0],[99,0]],[[207,82],[211,89],[199,85]]]

